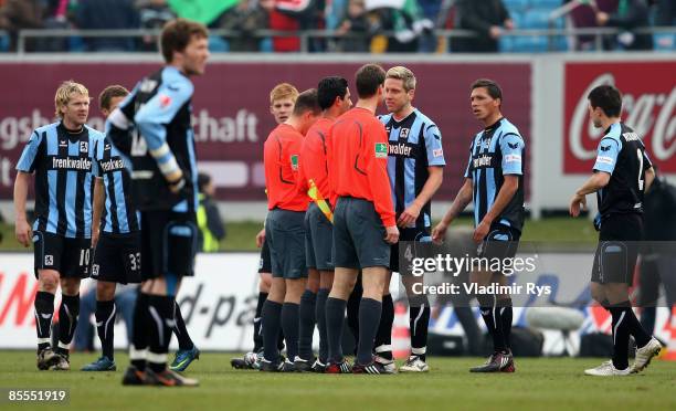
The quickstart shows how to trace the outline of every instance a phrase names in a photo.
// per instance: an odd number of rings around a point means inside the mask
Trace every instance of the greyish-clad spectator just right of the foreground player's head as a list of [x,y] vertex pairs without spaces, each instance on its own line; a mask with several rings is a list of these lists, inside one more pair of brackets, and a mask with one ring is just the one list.
[[239,32],[229,38],[232,52],[261,51],[261,38],[253,35],[261,29],[270,25],[268,13],[275,7],[275,0],[242,0],[236,7],[230,9],[221,18],[220,29]]

